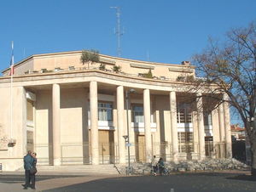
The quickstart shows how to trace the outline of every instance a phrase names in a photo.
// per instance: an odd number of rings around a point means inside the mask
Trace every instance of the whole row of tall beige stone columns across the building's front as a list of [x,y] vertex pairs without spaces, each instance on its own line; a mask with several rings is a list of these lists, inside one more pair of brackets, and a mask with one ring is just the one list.
[[[200,159],[205,158],[205,133],[203,123],[202,98],[201,94],[197,95],[197,121],[198,121],[198,137],[199,137],[199,153]],[[170,111],[171,111],[171,130],[172,130],[172,157],[173,161],[178,161],[178,141],[177,141],[177,102],[176,93],[170,93]],[[61,126],[60,126],[60,86],[53,85],[52,91],[53,99],[53,157],[54,165],[61,165]],[[119,163],[125,163],[125,142],[123,136],[125,135],[125,109],[124,109],[124,87],[117,88],[117,131],[119,144]],[[90,82],[90,144],[91,144],[91,164],[99,164],[99,148],[98,148],[98,107],[97,107],[97,82]],[[126,109],[128,110],[128,109]],[[220,108],[222,110],[222,106]],[[144,112],[144,133],[145,133],[145,152],[146,161],[150,162],[152,159],[152,140],[151,140],[151,121],[150,121],[150,91],[143,90],[143,112]],[[220,128],[220,137],[226,135],[226,151],[227,157],[230,157],[231,151],[231,136],[230,136],[230,114],[229,106],[224,104],[224,117],[219,117],[219,121],[224,121],[224,128]],[[130,128],[130,127],[128,127]]]

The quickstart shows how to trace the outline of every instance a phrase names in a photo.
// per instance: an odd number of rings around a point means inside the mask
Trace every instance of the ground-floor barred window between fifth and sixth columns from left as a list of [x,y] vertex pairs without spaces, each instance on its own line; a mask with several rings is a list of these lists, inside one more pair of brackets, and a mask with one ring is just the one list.
[[193,132],[178,132],[178,152],[179,153],[191,153],[194,152],[194,138]]

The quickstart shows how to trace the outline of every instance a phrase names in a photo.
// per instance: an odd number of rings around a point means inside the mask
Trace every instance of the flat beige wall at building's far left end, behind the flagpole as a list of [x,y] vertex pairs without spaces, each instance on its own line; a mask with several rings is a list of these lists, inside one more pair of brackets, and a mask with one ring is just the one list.
[[[11,101],[10,101],[10,88],[6,88],[9,86],[9,82],[0,84],[0,123],[4,127],[4,133],[1,133],[1,139],[3,136],[7,136],[7,139],[10,138],[15,139],[15,146],[8,145],[6,143],[6,147],[2,147],[0,150],[0,157],[2,163],[2,168],[4,170],[14,170],[20,167],[23,167],[23,156],[26,155],[26,103],[24,102],[25,91],[24,88],[17,86],[14,84],[13,87],[13,99],[12,99],[12,128],[10,122],[10,109],[11,109]],[[11,137],[12,135],[12,137]],[[12,158],[10,161],[9,158]]]

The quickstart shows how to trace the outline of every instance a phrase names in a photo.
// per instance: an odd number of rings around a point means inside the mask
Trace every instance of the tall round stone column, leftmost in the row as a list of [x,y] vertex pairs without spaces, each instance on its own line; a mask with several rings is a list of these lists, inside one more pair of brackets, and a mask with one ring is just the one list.
[[61,165],[61,89],[60,85],[53,84],[52,88],[52,131],[53,131],[53,163]]

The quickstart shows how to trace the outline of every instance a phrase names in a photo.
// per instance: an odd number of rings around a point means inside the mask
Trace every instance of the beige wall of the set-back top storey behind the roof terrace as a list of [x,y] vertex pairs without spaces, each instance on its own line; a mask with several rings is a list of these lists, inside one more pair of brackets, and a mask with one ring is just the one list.
[[[55,71],[56,67],[60,67],[63,71],[68,71],[69,66],[73,66],[76,71],[84,70],[88,68],[88,64],[82,65],[80,63],[81,51],[67,52],[67,53],[55,53],[55,54],[38,54],[20,61],[15,64],[15,75],[24,75],[26,71],[41,72],[42,69],[47,71]],[[108,55],[100,54],[101,60],[107,60],[109,62],[103,62],[108,71],[112,71],[113,65],[121,67],[121,71],[125,74],[132,76],[138,76],[139,73],[148,73],[149,68],[152,68],[153,76],[160,78],[165,76],[167,79],[176,80],[177,76],[195,76],[195,66],[193,65],[173,65],[173,64],[161,64],[141,60],[116,58]],[[102,64],[95,63],[89,65],[90,69],[98,69]],[[131,66],[137,65],[137,66]],[[169,71],[169,69],[172,69]],[[187,70],[191,70],[188,72]],[[9,76],[9,69],[3,71],[3,76]]]

